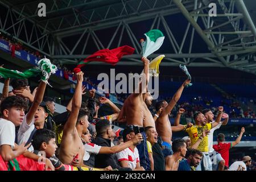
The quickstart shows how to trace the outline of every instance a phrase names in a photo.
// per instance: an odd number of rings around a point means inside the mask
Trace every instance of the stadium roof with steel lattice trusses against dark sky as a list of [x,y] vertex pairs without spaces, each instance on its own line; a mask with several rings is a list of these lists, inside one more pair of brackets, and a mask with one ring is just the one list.
[[[38,4],[46,4],[46,17]],[[209,3],[217,16],[210,17]],[[140,65],[143,34],[166,36],[161,66],[229,67],[256,74],[256,7],[250,0],[0,0],[1,32],[65,64],[98,49],[136,49],[117,65]],[[91,63],[97,64],[97,63]]]

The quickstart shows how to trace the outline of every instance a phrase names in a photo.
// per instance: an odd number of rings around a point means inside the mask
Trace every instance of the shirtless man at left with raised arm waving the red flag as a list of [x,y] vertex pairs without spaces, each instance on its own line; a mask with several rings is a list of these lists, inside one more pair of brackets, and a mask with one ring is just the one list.
[[72,111],[64,126],[59,159],[63,164],[73,164],[73,161],[75,161],[77,162],[77,167],[87,167],[83,163],[84,144],[82,143],[81,137],[82,134],[86,133],[88,128],[89,113],[87,110],[80,110],[82,103],[81,88],[82,81],[84,80],[84,73],[79,72],[76,76],[77,84],[72,101]]

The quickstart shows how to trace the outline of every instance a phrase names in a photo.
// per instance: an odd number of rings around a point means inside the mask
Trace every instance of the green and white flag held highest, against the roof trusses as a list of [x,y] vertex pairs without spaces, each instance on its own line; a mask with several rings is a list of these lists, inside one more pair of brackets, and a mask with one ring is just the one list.
[[150,30],[144,34],[147,38],[146,41],[142,41],[142,55],[147,57],[151,53],[157,51],[163,44],[164,35],[160,30]]

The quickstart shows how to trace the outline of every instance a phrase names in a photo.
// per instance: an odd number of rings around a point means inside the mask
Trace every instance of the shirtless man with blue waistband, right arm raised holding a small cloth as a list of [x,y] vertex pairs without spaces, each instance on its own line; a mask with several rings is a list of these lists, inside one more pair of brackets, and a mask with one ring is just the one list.
[[[185,129],[184,125],[171,127],[171,122],[169,120],[169,115],[171,114],[172,109],[174,108],[177,101],[179,101],[181,93],[183,92],[184,87],[189,84],[191,80],[185,80],[183,84],[180,86],[180,88],[177,90],[177,92],[172,97],[172,100],[169,102],[169,104],[162,100],[159,102],[156,102],[156,110],[160,110],[161,107],[163,107],[163,111],[159,115],[159,118],[156,120],[156,131],[162,137],[163,143],[163,154],[164,158],[167,160],[167,156],[172,155],[172,146],[171,146],[171,139],[172,139],[172,131],[181,131]],[[174,130],[175,129],[175,130]]]

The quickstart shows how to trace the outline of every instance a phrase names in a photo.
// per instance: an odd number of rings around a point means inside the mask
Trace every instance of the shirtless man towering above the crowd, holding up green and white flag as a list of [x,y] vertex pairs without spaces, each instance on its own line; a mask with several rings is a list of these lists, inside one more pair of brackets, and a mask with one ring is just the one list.
[[[127,125],[135,125],[138,126],[140,129],[145,127],[143,120],[150,121],[150,125],[152,125],[152,122],[150,119],[146,119],[145,117],[149,117],[150,114],[145,114],[144,110],[146,104],[143,100],[143,92],[146,92],[146,86],[149,81],[149,63],[150,61],[146,57],[142,57],[142,62],[144,63],[144,76],[141,83],[139,84],[139,93],[132,93],[129,97],[125,100],[125,103],[123,104],[123,107],[121,109],[121,112],[118,117],[118,122],[126,122]],[[146,84],[142,84],[143,81],[146,79]],[[153,120],[154,121],[154,120]],[[148,126],[148,124],[147,124]],[[141,130],[142,131],[142,130]],[[147,171],[150,170],[150,160],[148,158],[148,152],[147,152],[147,139],[146,134],[141,132],[143,136],[143,142],[137,146],[139,151],[139,158],[141,166]]]

